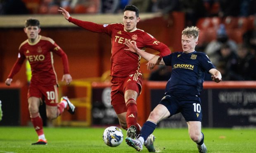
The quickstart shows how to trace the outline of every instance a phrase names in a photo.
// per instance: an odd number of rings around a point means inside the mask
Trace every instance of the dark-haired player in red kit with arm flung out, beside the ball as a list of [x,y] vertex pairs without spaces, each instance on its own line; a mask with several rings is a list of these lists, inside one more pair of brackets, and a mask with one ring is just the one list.
[[[152,35],[136,28],[140,17],[139,10],[133,5],[127,5],[123,10],[123,23],[109,25],[73,19],[63,8],[58,11],[64,15],[66,20],[77,26],[92,32],[106,33],[111,37],[111,104],[116,111],[120,125],[124,129],[128,129],[127,137],[134,138],[136,132],[140,132],[141,128],[137,123],[136,100],[142,90],[142,74],[139,71],[140,56],[125,51],[124,49],[127,47],[124,42],[129,39],[136,42],[140,49],[144,47],[155,49],[160,52],[160,57],[170,54],[170,49]],[[149,62],[154,65],[159,56],[152,58]],[[151,140],[153,143],[154,136],[151,137]]]

